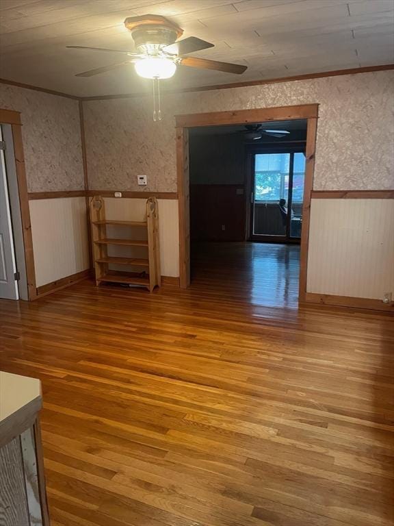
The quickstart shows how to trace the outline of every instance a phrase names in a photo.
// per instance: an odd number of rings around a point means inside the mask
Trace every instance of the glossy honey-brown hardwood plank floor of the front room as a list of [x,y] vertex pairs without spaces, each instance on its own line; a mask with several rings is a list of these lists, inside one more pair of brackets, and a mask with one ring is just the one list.
[[270,271],[228,259],[189,290],[0,300],[0,367],[43,383],[52,526],[393,525],[393,316],[265,308]]

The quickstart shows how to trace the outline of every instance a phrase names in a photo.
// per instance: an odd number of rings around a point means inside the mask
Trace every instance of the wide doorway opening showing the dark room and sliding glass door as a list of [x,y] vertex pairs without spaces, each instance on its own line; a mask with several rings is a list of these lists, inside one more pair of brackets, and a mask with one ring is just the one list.
[[297,307],[306,127],[189,129],[192,284],[231,284],[251,303]]

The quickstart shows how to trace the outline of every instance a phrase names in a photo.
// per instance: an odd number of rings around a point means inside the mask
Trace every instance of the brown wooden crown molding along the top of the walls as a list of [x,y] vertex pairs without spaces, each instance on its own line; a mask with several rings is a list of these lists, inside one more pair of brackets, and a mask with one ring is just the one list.
[[[323,73],[308,73],[306,75],[295,75],[293,77],[278,77],[276,79],[263,79],[263,80],[250,80],[246,82],[235,82],[232,84],[213,84],[212,86],[196,86],[192,88],[181,88],[178,90],[163,90],[164,94],[167,93],[191,93],[200,91],[213,91],[213,90],[230,90],[232,88],[247,88],[249,86],[265,86],[265,84],[279,84],[282,82],[296,82],[300,80],[311,80],[311,79],[322,79],[326,77],[337,77],[340,75],[356,75],[358,73],[371,73],[373,71],[388,71],[394,69],[394,64],[383,64],[381,66],[366,66],[364,68],[352,68],[352,69],[338,69],[335,71],[324,71]],[[25,88],[27,90],[41,91],[43,93],[49,93],[49,95],[57,95],[57,97],[66,97],[67,99],[73,99],[75,101],[107,101],[114,99],[138,99],[140,97],[150,97],[150,92],[138,92],[138,93],[124,93],[120,95],[95,95],[92,97],[77,97],[77,95],[70,95],[55,90],[47,90],[46,88],[40,88],[39,86],[31,86],[31,84],[23,84],[22,82],[14,82],[13,80],[1,79],[0,84],[9,84],[10,86],[17,86],[18,88]]]

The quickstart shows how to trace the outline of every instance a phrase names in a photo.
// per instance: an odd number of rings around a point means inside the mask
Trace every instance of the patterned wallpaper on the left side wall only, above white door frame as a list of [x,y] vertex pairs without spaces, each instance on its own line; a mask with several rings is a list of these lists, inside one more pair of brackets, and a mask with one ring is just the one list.
[[83,190],[77,101],[0,84],[0,108],[21,112],[29,192]]

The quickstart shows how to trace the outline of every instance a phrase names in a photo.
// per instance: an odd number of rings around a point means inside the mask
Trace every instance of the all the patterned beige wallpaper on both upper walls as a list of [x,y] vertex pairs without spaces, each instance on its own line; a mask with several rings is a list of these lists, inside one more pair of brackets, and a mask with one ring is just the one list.
[[[394,72],[172,94],[154,123],[151,97],[84,103],[90,188],[176,191],[174,115],[319,103],[316,190],[394,188]],[[22,114],[29,192],[83,189],[78,103],[0,84]],[[137,186],[138,174],[148,186]]]

